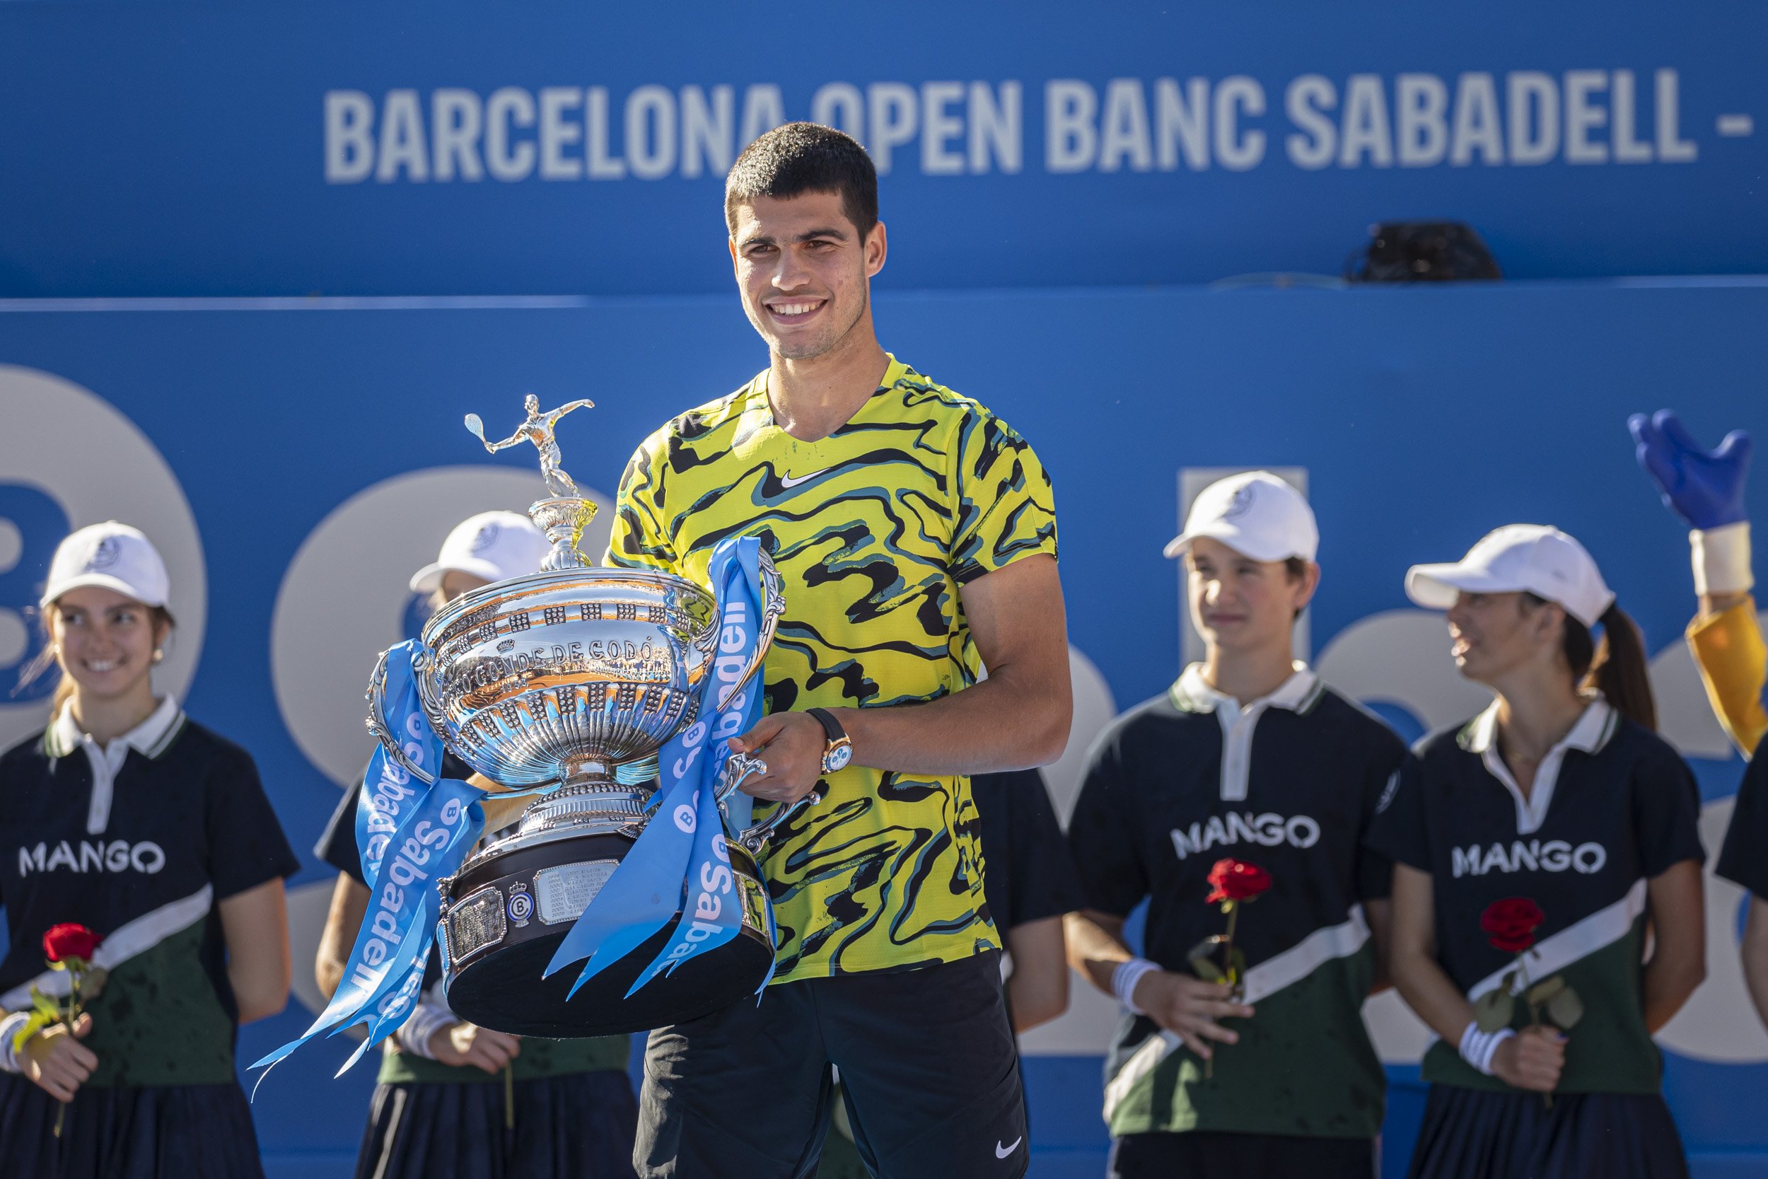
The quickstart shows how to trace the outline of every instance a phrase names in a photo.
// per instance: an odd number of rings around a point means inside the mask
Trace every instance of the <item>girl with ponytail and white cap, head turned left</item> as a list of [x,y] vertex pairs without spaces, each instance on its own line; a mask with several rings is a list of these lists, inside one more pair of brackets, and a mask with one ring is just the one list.
[[[1406,589],[1448,610],[1462,675],[1497,696],[1420,742],[1370,833],[1395,861],[1393,981],[1441,1036],[1411,1175],[1681,1179],[1651,1034],[1704,974],[1699,795],[1651,732],[1639,633],[1589,553],[1540,525],[1414,566]],[[1536,928],[1492,930],[1506,900],[1533,901]],[[1536,1023],[1529,988],[1551,979],[1579,1002]],[[1508,1025],[1482,1031],[1475,1000],[1499,988]]]

